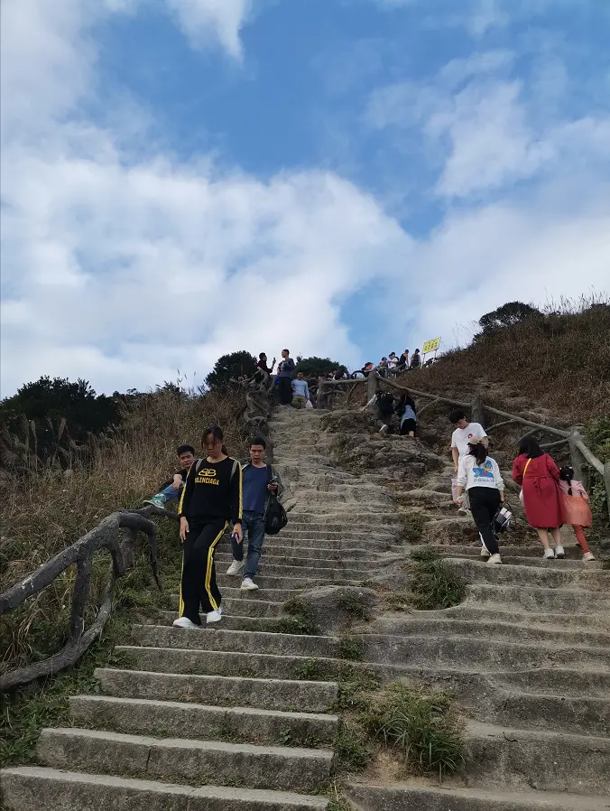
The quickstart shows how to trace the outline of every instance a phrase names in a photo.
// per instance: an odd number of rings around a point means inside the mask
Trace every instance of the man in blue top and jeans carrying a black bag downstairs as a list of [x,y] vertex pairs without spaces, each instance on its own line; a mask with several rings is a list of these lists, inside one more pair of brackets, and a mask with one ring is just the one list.
[[264,516],[271,499],[282,496],[282,480],[272,465],[264,461],[267,450],[262,436],[254,437],[250,443],[250,461],[242,467],[244,496],[242,528],[244,538],[241,542],[231,540],[233,563],[226,570],[227,574],[237,575],[244,569],[244,541],[248,536],[248,554],[245,560],[245,571],[240,588],[245,592],[258,589],[254,576],[261,559],[264,541]]

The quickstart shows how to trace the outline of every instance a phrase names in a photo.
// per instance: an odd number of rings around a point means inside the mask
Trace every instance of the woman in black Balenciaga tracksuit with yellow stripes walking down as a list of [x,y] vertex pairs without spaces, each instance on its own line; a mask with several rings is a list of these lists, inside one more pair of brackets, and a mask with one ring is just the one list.
[[191,466],[180,499],[180,540],[184,545],[180,584],[178,628],[199,628],[199,606],[206,621],[222,615],[221,595],[216,583],[214,551],[233,522],[233,536],[242,541],[242,469],[226,455],[223,433],[217,426],[206,428],[203,444],[206,459]]

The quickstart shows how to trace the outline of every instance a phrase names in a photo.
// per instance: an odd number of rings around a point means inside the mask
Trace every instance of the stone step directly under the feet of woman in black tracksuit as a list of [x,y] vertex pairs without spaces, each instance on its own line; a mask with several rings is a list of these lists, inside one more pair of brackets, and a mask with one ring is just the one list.
[[222,620],[210,629],[167,628],[162,625],[134,625],[132,637],[138,645],[151,648],[191,650],[238,650],[240,653],[276,653],[292,656],[334,657],[337,637],[278,634],[266,631],[223,630]]

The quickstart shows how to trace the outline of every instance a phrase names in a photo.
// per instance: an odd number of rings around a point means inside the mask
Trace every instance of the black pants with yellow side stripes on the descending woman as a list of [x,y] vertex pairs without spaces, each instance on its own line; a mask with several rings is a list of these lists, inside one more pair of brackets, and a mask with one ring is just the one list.
[[189,518],[189,532],[182,552],[180,617],[201,624],[199,606],[204,613],[216,611],[221,595],[216,584],[214,550],[228,526],[224,518]]

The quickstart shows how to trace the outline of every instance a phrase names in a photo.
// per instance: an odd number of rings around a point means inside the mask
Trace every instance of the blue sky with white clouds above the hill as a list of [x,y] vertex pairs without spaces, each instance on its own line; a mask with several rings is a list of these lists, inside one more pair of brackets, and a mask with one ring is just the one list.
[[610,4],[5,0],[2,393],[610,286]]

